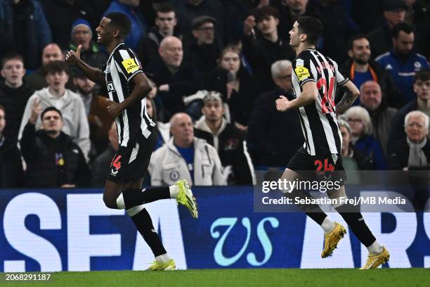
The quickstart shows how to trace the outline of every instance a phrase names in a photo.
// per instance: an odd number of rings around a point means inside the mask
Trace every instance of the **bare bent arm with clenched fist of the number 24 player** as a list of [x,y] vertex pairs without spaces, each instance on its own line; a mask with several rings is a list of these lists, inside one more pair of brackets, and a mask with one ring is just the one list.
[[276,100],[276,108],[284,112],[285,110],[292,110],[294,108],[300,108],[316,101],[318,98],[318,89],[316,88],[316,83],[314,81],[306,82],[303,87],[303,91],[300,96],[294,98],[294,100],[289,101],[285,96],[280,96]]

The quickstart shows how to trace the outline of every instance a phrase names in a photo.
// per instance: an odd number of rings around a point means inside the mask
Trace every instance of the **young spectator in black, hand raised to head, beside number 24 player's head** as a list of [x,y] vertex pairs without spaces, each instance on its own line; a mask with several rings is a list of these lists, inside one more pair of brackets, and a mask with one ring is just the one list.
[[278,11],[271,6],[257,8],[245,19],[242,49],[251,65],[254,79],[259,83],[257,92],[274,87],[270,72],[275,61],[295,58],[289,43],[278,36],[278,23]]

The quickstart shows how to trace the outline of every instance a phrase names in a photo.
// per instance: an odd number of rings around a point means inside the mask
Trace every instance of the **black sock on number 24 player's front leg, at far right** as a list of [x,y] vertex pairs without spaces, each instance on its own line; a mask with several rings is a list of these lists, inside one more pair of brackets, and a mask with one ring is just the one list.
[[354,234],[356,234],[358,240],[363,243],[366,247],[369,247],[376,241],[372,231],[364,221],[363,215],[358,212],[356,205],[344,204],[335,208],[337,212],[344,218],[345,222],[351,227]]

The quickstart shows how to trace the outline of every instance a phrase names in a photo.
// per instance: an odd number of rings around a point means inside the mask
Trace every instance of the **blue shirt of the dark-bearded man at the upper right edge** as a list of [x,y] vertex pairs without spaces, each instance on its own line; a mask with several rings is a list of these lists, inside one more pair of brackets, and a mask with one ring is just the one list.
[[415,98],[415,92],[412,88],[415,72],[423,68],[428,69],[430,66],[427,59],[419,55],[419,53],[410,53],[407,58],[403,59],[403,57],[393,53],[392,50],[383,53],[375,60],[391,74],[391,77],[393,77],[394,82],[405,98],[405,103]]

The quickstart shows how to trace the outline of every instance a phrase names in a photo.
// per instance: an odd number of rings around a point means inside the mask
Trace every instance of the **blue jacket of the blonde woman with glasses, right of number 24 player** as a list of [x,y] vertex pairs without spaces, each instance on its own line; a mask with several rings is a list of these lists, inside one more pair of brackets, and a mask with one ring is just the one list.
[[356,144],[354,144],[354,148],[372,159],[374,170],[387,169],[384,151],[382,151],[381,144],[379,144],[379,141],[374,136],[369,134],[361,136]]

